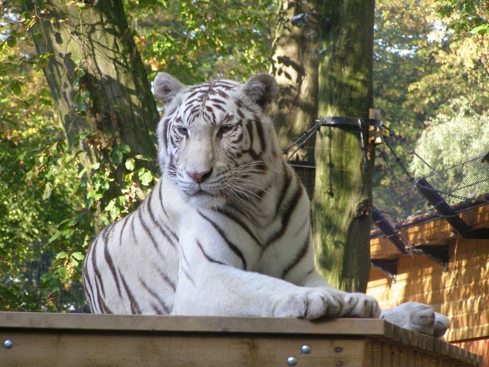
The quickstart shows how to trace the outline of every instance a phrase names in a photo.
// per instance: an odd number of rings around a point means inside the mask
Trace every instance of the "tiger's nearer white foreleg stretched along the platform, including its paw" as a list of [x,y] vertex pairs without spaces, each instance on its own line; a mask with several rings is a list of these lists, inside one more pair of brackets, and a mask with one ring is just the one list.
[[255,317],[337,317],[341,302],[325,288],[299,287],[282,279],[207,263],[183,265],[173,314]]

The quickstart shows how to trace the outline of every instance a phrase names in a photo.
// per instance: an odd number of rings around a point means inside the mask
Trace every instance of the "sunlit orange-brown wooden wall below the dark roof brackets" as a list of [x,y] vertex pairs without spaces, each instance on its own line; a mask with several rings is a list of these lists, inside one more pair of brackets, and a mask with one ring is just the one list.
[[398,257],[396,282],[371,269],[367,293],[381,308],[415,301],[446,314],[446,340],[482,354],[489,366],[489,240],[452,238],[448,271],[428,256]]

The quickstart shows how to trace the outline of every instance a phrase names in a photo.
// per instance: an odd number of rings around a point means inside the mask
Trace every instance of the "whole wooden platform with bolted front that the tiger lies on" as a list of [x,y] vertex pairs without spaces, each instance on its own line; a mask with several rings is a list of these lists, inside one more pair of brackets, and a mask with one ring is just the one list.
[[464,349],[374,319],[0,312],[0,341],[0,366],[9,367],[272,367],[293,365],[290,357],[298,367],[483,365]]

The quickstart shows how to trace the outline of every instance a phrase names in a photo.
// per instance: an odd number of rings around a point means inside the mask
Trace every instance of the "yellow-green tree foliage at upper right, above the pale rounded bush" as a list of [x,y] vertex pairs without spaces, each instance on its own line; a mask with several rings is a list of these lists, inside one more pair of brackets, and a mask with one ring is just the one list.
[[[488,40],[449,28],[452,18],[440,19],[440,9],[433,0],[376,4],[374,103],[410,147],[452,100],[465,98],[477,114],[487,109]],[[403,145],[394,149],[400,156],[407,152]],[[392,161],[394,176],[407,180],[396,168]],[[375,191],[396,184],[383,160],[376,160],[375,169]]]

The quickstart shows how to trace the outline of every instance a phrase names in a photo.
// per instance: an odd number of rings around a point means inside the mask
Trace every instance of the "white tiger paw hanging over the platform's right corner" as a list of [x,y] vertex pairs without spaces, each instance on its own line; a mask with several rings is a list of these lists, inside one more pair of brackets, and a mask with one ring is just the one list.
[[440,338],[450,327],[450,320],[423,303],[406,302],[382,310],[380,318],[405,329]]

